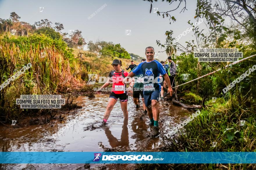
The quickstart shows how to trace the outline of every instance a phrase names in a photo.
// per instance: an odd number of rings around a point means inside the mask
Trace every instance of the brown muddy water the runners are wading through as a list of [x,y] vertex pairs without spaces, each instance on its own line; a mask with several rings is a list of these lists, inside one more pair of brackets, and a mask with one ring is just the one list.
[[[141,108],[136,109],[129,96],[128,121],[120,107],[119,100],[114,106],[106,127],[101,127],[108,94],[95,95],[89,99],[79,96],[77,101],[83,107],[76,115],[66,115],[63,121],[51,120],[44,125],[30,125],[22,128],[0,127],[1,151],[157,151],[161,138],[152,137],[149,118]],[[190,112],[171,102],[159,101],[160,135],[181,121]],[[91,164],[97,169],[99,164]],[[83,164],[8,164],[0,169],[77,169]]]

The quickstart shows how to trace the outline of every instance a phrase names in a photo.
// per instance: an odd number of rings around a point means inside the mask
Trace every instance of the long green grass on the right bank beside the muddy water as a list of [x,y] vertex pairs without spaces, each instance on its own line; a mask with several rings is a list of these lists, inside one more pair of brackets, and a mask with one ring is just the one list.
[[[234,110],[235,95],[229,100],[217,98],[201,110],[199,116],[180,129],[173,138],[163,138],[165,152],[255,152],[255,103],[247,109]],[[240,126],[240,120],[245,120]],[[212,147],[217,142],[216,147]],[[137,164],[138,169],[255,169],[255,164]]]

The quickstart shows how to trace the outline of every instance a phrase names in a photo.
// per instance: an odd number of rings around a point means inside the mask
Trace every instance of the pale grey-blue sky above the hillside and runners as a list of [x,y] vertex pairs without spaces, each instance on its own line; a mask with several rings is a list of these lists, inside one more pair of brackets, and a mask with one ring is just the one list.
[[[184,7],[181,4],[178,10],[171,13],[176,18],[171,24],[168,18],[157,16],[154,9],[150,14],[150,2],[143,0],[0,0],[0,18],[8,19],[11,12],[16,12],[21,17],[20,21],[31,25],[41,19],[49,19],[53,27],[55,22],[62,23],[62,32],[82,31],[86,42],[99,40],[120,43],[127,52],[145,57],[147,46],[154,47],[155,52],[164,50],[157,46],[156,40],[164,42],[167,30],[173,30],[173,37],[176,37],[189,28],[189,20],[195,23],[196,2],[187,1],[187,10],[180,13]],[[159,0],[153,3],[153,8],[166,12],[177,5]],[[44,7],[42,12],[39,12],[40,7]],[[131,30],[130,35],[126,35],[126,30]],[[182,36],[179,43],[186,46],[185,42],[193,39],[192,35],[193,32],[190,32]],[[165,52],[160,52],[158,59],[166,60],[167,57]]]

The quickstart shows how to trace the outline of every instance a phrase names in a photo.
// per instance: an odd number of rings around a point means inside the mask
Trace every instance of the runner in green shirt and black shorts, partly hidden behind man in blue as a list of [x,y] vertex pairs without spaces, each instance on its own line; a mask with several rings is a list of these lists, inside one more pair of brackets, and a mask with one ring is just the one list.
[[[141,63],[144,61],[146,61],[146,59],[142,59]],[[131,72],[136,67],[134,67],[131,70]],[[138,103],[138,100],[139,100],[140,94],[141,94],[141,98],[142,98],[142,102],[143,102],[143,112],[144,112],[144,114],[147,114],[147,109],[146,109],[145,102],[144,102],[143,90],[140,90],[140,89],[143,89],[143,77],[144,76],[143,76],[143,74],[139,74],[139,75],[135,75],[135,77],[137,77],[136,83],[134,83],[134,78],[133,78],[133,81],[131,81],[131,83],[130,83],[130,87],[133,88],[133,91],[132,91],[133,101],[134,101],[134,104],[136,105],[136,108],[139,108],[140,105]]]

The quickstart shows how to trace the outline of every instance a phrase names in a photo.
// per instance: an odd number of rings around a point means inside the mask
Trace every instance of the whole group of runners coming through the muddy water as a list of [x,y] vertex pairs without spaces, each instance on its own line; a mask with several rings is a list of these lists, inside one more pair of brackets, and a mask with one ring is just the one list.
[[[131,72],[128,73],[125,70],[122,70],[120,67],[122,66],[122,62],[118,59],[113,60],[113,68],[114,70],[109,73],[108,80],[106,82],[112,82],[112,90],[109,96],[109,102],[104,113],[104,118],[102,121],[102,125],[104,126],[109,118],[110,112],[112,111],[117,99],[120,100],[121,109],[123,111],[125,119],[128,119],[128,111],[127,111],[127,102],[128,102],[128,94],[127,92],[133,91],[133,99],[136,105],[136,108],[139,108],[139,95],[141,95],[143,101],[143,112],[148,115],[150,119],[150,126],[154,126],[153,136],[159,135],[159,107],[158,101],[160,98],[160,92],[163,90],[163,84],[158,83],[160,80],[155,81],[157,77],[163,77],[165,82],[168,85],[168,92],[170,96],[172,96],[172,86],[170,83],[170,79],[172,84],[174,84],[174,75],[170,74],[170,69],[175,67],[175,63],[173,64],[171,58],[168,57],[169,65],[166,66],[164,63],[160,63],[157,60],[154,60],[154,48],[149,46],[145,49],[146,60],[142,59],[141,63],[136,66],[134,62],[131,62],[131,65],[126,68],[127,70],[131,68]],[[128,65],[127,65],[128,66]],[[168,67],[169,69],[166,69]],[[171,68],[170,68],[171,67]],[[167,73],[168,71],[168,73]],[[129,78],[136,78],[136,83],[134,83],[134,79],[130,82],[128,90],[126,89],[126,82],[129,82]],[[161,82],[161,81],[160,81]],[[109,86],[110,83],[105,83],[101,88],[105,88]],[[139,90],[143,89],[143,91]],[[99,91],[96,92],[98,94]],[[162,95],[161,95],[162,96]]]

